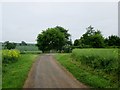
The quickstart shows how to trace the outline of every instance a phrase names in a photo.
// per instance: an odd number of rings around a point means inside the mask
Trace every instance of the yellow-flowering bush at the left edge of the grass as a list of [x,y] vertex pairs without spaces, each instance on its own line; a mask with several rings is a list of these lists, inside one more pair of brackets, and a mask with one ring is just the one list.
[[2,62],[15,62],[20,56],[19,50],[2,50]]

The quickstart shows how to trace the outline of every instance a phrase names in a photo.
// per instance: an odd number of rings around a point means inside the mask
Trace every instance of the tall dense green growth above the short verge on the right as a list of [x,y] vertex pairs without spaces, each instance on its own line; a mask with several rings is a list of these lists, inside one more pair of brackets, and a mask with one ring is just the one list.
[[118,55],[118,49],[74,49],[72,51],[72,57],[81,65],[115,75],[119,72]]

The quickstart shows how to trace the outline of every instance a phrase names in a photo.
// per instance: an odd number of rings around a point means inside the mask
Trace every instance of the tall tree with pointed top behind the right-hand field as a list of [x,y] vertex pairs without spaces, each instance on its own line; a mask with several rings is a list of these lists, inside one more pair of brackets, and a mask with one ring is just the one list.
[[89,26],[87,32],[80,38],[82,45],[87,45],[93,48],[104,47],[104,38],[99,30],[95,31],[94,27]]

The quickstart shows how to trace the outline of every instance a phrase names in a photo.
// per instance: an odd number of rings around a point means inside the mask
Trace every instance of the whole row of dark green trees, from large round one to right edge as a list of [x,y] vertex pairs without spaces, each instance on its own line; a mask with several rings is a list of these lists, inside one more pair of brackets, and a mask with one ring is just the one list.
[[36,45],[43,53],[51,50],[70,52],[73,48],[120,47],[120,37],[111,35],[104,38],[101,31],[94,30],[92,26],[89,26],[86,30],[86,33],[72,43],[71,34],[68,33],[67,29],[61,26],[48,28],[38,34]]

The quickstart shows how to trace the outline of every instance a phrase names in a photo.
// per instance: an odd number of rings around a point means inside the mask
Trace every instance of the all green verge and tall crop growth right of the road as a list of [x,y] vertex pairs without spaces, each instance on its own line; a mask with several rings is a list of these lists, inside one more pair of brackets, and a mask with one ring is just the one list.
[[71,54],[56,54],[55,58],[90,87],[118,87],[118,49],[74,49]]

